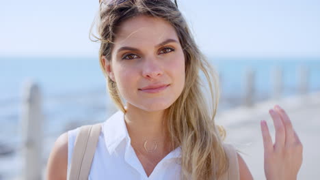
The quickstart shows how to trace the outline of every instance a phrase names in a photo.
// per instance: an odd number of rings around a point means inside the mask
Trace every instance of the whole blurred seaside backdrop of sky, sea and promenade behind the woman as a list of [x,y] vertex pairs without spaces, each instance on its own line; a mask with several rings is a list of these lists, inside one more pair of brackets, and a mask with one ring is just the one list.
[[[298,179],[317,179],[320,1],[178,0],[178,7],[219,72],[217,122],[226,127],[227,141],[247,153],[254,178],[264,179],[259,122],[267,119],[274,133],[267,111],[280,104],[304,144]],[[60,134],[116,111],[99,67],[99,44],[89,40],[97,10],[98,0],[0,2],[1,180],[28,179],[39,161],[42,170],[34,173],[43,178]]]

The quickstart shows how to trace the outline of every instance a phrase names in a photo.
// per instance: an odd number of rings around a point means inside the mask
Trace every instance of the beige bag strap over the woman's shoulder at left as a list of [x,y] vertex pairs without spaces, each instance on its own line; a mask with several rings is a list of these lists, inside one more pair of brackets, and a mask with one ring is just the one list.
[[88,180],[101,123],[83,125],[75,140],[68,180]]

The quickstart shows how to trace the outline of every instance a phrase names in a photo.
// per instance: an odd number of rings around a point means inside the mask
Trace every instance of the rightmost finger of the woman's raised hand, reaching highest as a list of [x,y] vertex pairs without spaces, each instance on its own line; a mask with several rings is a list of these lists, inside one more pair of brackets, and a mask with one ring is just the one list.
[[289,116],[279,105],[276,105],[275,108],[281,117],[286,132],[285,144],[291,144],[292,142],[295,142],[295,133],[293,132],[293,125],[291,123],[291,120],[289,119]]

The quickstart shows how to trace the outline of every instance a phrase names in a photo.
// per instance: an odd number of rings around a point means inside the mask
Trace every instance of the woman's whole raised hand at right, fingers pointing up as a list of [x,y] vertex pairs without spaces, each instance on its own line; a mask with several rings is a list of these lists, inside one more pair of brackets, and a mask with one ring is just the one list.
[[269,113],[274,120],[276,142],[272,142],[267,123],[261,121],[265,177],[267,180],[295,180],[302,164],[302,143],[293,130],[291,120],[280,106],[275,106]]

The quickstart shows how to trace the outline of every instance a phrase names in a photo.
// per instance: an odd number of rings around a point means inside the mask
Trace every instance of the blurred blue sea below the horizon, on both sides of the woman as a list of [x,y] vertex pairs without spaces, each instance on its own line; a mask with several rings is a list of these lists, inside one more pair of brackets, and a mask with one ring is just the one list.
[[[300,66],[309,69],[308,91],[320,90],[320,59],[209,59],[222,77],[221,106],[241,104],[245,70],[254,70],[254,94],[257,100],[266,100],[272,91],[271,73],[274,67],[283,71],[284,97],[297,94]],[[23,86],[28,80],[37,82],[43,96],[46,125],[59,132],[60,124],[72,121],[102,121],[113,111],[105,88],[105,78],[97,58],[0,58],[0,142],[12,137],[12,131],[21,119]],[[224,101],[225,100],[225,101]],[[227,104],[227,105],[226,105]],[[112,107],[109,107],[112,106]],[[111,109],[111,110],[108,110]],[[6,128],[6,127],[10,128]]]

